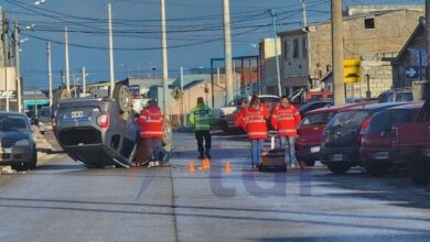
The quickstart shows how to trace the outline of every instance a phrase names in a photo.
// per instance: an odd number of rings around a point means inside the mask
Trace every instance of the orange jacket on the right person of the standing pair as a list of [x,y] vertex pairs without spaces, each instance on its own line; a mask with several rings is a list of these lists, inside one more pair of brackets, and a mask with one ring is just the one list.
[[278,136],[295,136],[300,121],[300,112],[292,105],[277,105],[270,117],[270,123],[278,130]]

